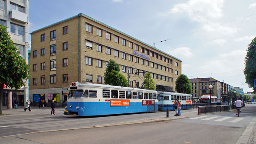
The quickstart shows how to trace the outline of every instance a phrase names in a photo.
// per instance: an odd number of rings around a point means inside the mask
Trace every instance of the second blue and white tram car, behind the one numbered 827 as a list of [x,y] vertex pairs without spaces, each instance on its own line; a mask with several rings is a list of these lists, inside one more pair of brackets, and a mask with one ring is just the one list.
[[158,109],[174,109],[174,99],[181,101],[181,109],[192,108],[192,95],[184,93],[158,92]]

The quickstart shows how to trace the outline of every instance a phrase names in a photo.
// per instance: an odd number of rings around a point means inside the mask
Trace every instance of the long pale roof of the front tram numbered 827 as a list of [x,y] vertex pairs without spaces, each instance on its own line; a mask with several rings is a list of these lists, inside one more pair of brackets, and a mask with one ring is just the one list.
[[[124,87],[124,86],[111,86],[111,85],[96,84],[96,83],[77,83],[76,82],[76,86],[89,86],[89,87],[111,88],[111,89],[122,89],[122,90],[137,90],[137,91],[158,93],[155,90],[138,89],[138,88]],[[72,85],[70,85],[69,87],[72,87]]]

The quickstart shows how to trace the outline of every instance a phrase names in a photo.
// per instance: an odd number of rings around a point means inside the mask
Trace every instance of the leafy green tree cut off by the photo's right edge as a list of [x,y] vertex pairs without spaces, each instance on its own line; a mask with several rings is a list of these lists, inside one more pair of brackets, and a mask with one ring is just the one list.
[[249,88],[253,88],[255,92],[253,80],[256,80],[256,38],[248,45],[243,73]]

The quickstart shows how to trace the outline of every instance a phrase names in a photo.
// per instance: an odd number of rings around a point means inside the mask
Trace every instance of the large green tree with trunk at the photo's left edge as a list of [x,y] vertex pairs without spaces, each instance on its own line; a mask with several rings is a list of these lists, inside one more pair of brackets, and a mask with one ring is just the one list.
[[0,26],[0,114],[3,114],[3,86],[19,89],[25,86],[23,79],[29,79],[29,65],[19,55],[20,52],[5,27]]

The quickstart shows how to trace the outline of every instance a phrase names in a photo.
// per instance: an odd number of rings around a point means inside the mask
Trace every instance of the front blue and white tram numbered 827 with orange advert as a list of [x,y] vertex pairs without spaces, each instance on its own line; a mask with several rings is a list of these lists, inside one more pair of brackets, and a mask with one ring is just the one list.
[[158,111],[157,91],[73,82],[65,115],[113,115]]

